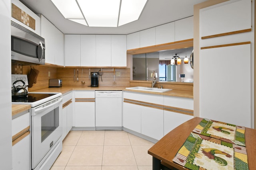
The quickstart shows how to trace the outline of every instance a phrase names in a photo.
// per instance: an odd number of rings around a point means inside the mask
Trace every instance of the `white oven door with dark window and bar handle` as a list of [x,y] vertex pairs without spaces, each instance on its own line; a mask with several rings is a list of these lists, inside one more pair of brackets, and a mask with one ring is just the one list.
[[32,169],[62,136],[62,97],[31,108]]

